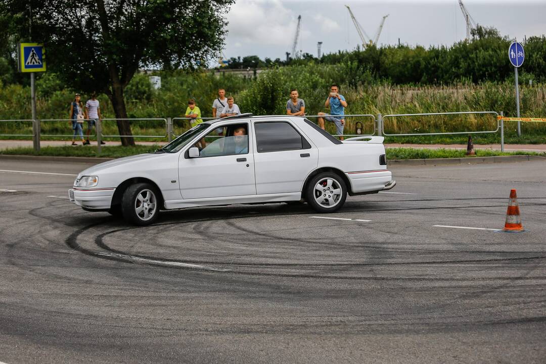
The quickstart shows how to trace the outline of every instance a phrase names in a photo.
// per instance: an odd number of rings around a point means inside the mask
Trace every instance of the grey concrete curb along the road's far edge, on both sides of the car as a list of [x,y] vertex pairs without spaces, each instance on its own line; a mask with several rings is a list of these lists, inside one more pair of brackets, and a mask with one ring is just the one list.
[[[83,162],[102,163],[116,158],[96,157],[50,157],[50,156],[20,156],[0,154],[0,160],[42,160],[44,162]],[[497,156],[497,157],[467,157],[467,158],[431,158],[431,159],[391,159],[387,165],[462,165],[462,164],[491,164],[527,162],[529,160],[546,160],[541,156]]]

